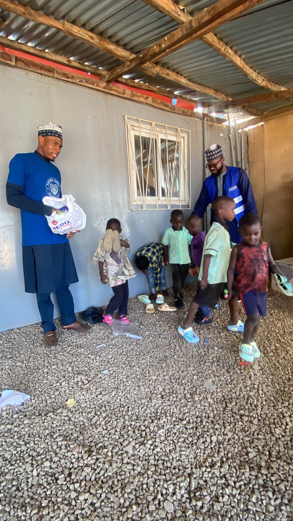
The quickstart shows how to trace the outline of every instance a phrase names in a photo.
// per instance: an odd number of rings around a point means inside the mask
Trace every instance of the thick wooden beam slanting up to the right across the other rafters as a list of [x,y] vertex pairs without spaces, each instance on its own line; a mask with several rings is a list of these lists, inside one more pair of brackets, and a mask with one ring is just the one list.
[[215,30],[223,23],[233,20],[264,1],[218,0],[218,2],[207,7],[200,14],[185,22],[179,29],[168,34],[168,36],[156,42],[152,47],[145,49],[139,56],[127,60],[124,65],[115,67],[108,72],[105,79],[106,81],[113,81],[146,62],[157,61],[168,54],[174,53],[181,47],[202,38],[202,36]]

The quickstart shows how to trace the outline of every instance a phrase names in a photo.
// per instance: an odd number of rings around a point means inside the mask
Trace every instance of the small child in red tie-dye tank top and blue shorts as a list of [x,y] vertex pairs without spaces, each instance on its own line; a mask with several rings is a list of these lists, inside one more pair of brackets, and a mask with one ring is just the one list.
[[[260,317],[266,316],[268,268],[273,274],[282,276],[275,265],[270,244],[260,240],[261,231],[261,220],[257,214],[251,213],[241,217],[239,232],[243,241],[236,244],[231,251],[227,271],[229,294],[231,294],[235,270],[238,274],[236,278],[237,289],[247,315],[243,343],[239,345],[239,355],[248,362],[253,362],[254,358],[260,356],[254,338],[259,329]],[[285,279],[283,276],[282,278]]]

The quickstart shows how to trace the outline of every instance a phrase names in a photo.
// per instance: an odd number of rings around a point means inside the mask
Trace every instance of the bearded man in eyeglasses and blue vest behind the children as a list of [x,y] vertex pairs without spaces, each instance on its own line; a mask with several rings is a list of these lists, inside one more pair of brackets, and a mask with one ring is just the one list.
[[[226,195],[235,201],[235,219],[227,223],[232,242],[238,243],[241,238],[238,233],[240,217],[250,212],[257,214],[258,208],[254,200],[252,187],[247,173],[242,168],[226,166],[220,145],[211,145],[205,151],[206,168],[211,172],[203,182],[199,198],[193,208],[192,214],[203,217],[207,206],[219,197]],[[211,224],[214,221],[214,213],[211,210]]]

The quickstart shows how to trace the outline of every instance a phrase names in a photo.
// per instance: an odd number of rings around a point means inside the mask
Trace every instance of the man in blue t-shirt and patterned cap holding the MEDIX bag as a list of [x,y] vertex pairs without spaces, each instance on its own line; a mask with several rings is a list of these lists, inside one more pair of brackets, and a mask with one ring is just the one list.
[[44,196],[61,197],[61,177],[53,164],[63,145],[62,128],[49,123],[38,127],[38,148],[28,154],[16,154],[9,164],[6,184],[7,203],[20,208],[22,261],[25,291],[36,293],[44,330],[44,344],[56,345],[54,305],[50,294],[55,291],[63,329],[86,333],[91,328],[76,320],[69,284],[78,282],[68,238],[70,232],[52,232],[46,215],[55,208],[42,203]]

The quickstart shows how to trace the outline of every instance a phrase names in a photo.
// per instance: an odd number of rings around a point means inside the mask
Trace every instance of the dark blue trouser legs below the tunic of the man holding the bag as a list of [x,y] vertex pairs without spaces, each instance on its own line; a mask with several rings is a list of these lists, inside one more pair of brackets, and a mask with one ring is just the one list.
[[[74,301],[69,291],[69,287],[64,288],[55,292],[60,309],[60,315],[63,326],[69,326],[76,321],[74,312]],[[36,293],[36,302],[38,303],[39,312],[42,319],[42,327],[44,334],[48,331],[55,331],[56,326],[54,324],[54,304],[51,300],[51,293]]]

